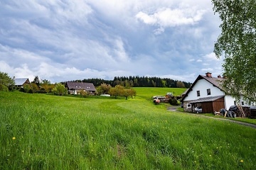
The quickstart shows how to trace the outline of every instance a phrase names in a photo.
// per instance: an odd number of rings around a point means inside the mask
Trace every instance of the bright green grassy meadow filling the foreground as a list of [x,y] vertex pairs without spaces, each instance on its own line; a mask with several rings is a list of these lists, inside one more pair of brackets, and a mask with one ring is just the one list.
[[255,129],[146,100],[173,92],[161,90],[128,100],[0,92],[0,169],[256,169]]

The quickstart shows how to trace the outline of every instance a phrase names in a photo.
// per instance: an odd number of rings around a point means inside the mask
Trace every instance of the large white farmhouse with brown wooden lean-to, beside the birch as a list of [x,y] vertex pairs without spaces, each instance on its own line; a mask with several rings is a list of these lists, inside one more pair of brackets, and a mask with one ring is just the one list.
[[225,94],[220,86],[223,80],[225,77],[212,77],[209,72],[206,76],[199,75],[181,99],[184,111],[193,112],[194,108],[201,106],[202,113],[214,113],[221,108],[228,110],[230,106],[237,103],[242,107],[248,107],[242,95],[240,95],[240,101],[235,101],[235,98]]

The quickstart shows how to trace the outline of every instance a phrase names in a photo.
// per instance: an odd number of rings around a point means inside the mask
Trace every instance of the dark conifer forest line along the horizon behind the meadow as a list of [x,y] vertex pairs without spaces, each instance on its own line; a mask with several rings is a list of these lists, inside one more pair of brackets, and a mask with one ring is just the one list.
[[[111,86],[126,86],[126,87],[170,87],[170,88],[189,88],[191,83],[186,81],[179,81],[169,78],[160,77],[114,77],[113,80],[105,79],[83,79],[74,80],[77,82],[87,82],[92,83],[95,86],[100,86],[101,84],[110,84]],[[64,83],[64,82],[63,82]]]

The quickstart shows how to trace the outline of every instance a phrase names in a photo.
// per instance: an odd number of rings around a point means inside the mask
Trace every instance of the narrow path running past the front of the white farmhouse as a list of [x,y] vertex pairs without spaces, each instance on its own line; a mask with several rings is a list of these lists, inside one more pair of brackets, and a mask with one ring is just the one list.
[[[170,106],[167,108],[168,111],[176,111],[176,109],[179,108],[179,106]],[[176,112],[180,112],[180,111],[176,111]],[[185,112],[180,112],[180,113],[185,113]],[[249,126],[251,128],[255,128],[256,129],[256,125],[251,124],[251,123],[243,123],[243,122],[239,122],[239,121],[235,121],[235,120],[230,120],[230,119],[225,119],[225,118],[214,118],[214,117],[210,117],[210,116],[206,116],[206,115],[201,115],[201,114],[191,114],[191,113],[187,113],[190,115],[195,115],[195,116],[201,116],[204,118],[212,118],[212,119],[216,119],[216,120],[223,120],[223,121],[228,121],[228,122],[233,122],[233,123],[238,123],[240,125],[245,125],[245,126]]]

